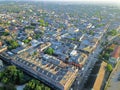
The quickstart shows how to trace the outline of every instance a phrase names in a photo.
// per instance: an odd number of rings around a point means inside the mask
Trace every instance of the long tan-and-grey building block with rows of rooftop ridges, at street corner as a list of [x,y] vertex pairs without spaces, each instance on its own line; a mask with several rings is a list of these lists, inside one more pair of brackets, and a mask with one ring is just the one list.
[[14,56],[11,62],[57,90],[69,90],[78,74],[75,67],[60,63],[62,61],[49,55],[40,59],[23,52]]

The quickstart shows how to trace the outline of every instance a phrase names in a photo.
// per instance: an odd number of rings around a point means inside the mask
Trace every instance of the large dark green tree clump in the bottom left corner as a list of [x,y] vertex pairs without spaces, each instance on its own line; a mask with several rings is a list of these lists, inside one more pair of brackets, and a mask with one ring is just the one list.
[[4,71],[0,72],[0,81],[3,83],[0,90],[17,90],[15,85],[23,83],[24,74],[15,66],[8,66]]

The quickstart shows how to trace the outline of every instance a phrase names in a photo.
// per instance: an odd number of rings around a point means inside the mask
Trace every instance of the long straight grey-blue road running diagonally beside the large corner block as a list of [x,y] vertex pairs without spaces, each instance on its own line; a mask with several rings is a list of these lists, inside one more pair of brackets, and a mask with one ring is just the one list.
[[[109,25],[110,23],[108,23],[104,28],[105,32],[103,33],[101,38],[102,42],[106,42],[105,34],[107,33]],[[71,90],[83,90],[84,84],[88,79],[88,76],[90,75],[95,63],[98,61],[97,57],[99,53],[103,50],[103,48],[104,47],[101,47],[101,43],[99,43],[93,53],[89,54],[88,61],[84,65],[84,70],[79,71],[79,75],[77,76]]]

